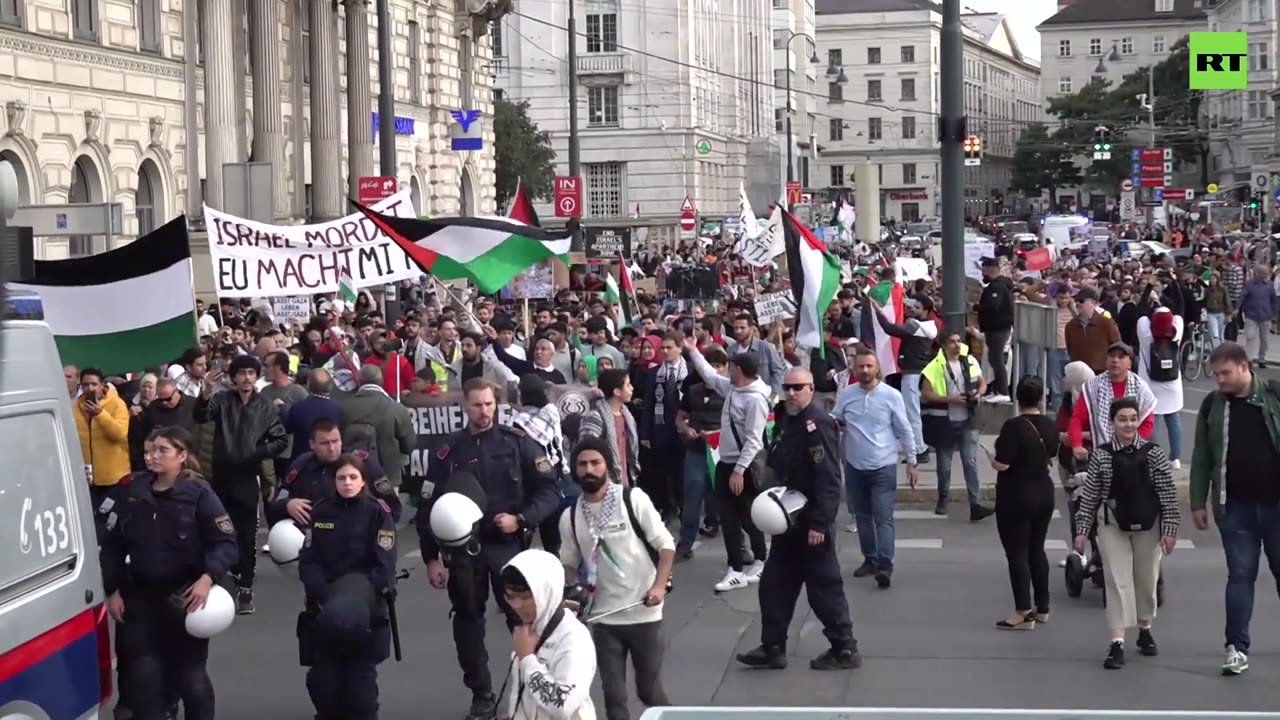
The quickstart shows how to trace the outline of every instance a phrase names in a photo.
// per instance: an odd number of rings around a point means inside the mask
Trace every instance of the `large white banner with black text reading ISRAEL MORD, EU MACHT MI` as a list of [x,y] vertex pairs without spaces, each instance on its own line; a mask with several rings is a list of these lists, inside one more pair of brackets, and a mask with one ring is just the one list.
[[[413,218],[408,191],[372,205]],[[346,269],[357,288],[417,279],[422,270],[364,214],[312,225],[269,225],[205,206],[214,290],[219,297],[337,292]]]

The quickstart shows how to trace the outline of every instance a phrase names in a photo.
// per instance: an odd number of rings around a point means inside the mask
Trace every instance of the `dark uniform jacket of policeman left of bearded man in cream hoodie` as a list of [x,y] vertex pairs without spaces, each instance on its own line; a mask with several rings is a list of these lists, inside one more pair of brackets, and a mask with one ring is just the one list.
[[481,541],[503,539],[493,524],[495,515],[516,515],[524,532],[536,528],[559,509],[558,470],[532,438],[497,424],[479,433],[458,430],[429,460],[422,484],[426,502],[417,512],[424,520],[417,523],[424,560],[439,556],[431,524],[425,520],[431,516],[431,501],[440,495],[435,491],[443,488],[453,473],[471,473],[484,488],[486,507],[480,521]]

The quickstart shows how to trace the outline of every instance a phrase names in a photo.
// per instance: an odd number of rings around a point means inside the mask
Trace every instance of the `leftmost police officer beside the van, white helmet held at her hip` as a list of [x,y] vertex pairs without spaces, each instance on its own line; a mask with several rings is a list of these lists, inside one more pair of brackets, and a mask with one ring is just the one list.
[[214,720],[209,639],[189,635],[184,621],[239,559],[236,528],[197,474],[191,434],[160,428],[148,439],[147,471],[129,478],[106,516],[106,606],[128,656],[133,716],[161,720],[177,696],[189,720]]

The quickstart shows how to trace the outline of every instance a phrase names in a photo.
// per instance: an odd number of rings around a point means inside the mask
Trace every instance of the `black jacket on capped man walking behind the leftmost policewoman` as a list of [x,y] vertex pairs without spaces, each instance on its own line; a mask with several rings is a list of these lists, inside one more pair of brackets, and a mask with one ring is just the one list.
[[214,480],[224,474],[257,475],[268,457],[284,452],[289,436],[280,414],[265,397],[253,392],[243,402],[238,389],[227,389],[196,400],[196,421],[214,423]]

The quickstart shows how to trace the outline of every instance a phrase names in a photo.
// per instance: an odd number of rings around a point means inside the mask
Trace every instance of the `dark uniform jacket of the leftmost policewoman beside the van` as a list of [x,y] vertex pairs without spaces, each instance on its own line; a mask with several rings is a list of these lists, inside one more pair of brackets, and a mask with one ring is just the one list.
[[113,503],[105,509],[101,553],[108,594],[177,592],[201,575],[216,583],[239,559],[236,528],[209,483],[183,474],[172,488],[156,492],[152,482],[152,473],[129,475],[102,503]]

